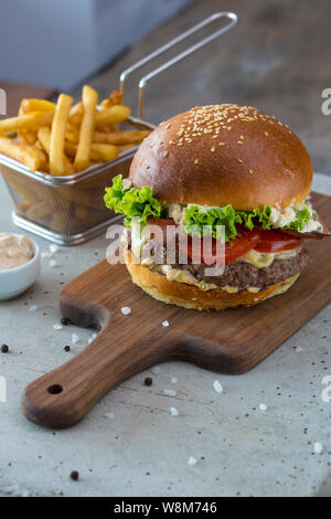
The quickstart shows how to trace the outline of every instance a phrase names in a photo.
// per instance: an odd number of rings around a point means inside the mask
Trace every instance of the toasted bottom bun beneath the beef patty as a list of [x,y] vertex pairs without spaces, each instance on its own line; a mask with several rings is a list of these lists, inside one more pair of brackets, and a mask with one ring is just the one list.
[[213,290],[201,290],[194,285],[169,282],[166,276],[150,271],[140,264],[132,263],[131,253],[124,250],[127,268],[132,282],[159,301],[177,305],[190,310],[224,310],[238,306],[253,306],[268,299],[269,297],[284,294],[298,279],[299,274],[291,276],[276,285],[269,285],[257,293],[239,292],[229,294],[222,288]]

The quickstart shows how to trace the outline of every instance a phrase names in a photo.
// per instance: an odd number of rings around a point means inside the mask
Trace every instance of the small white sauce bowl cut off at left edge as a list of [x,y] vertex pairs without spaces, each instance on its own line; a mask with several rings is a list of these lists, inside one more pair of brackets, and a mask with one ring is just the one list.
[[[11,233],[17,237],[21,234]],[[39,245],[29,236],[34,251],[34,256],[28,263],[15,268],[0,271],[0,300],[12,299],[36,282],[40,274],[40,248]]]

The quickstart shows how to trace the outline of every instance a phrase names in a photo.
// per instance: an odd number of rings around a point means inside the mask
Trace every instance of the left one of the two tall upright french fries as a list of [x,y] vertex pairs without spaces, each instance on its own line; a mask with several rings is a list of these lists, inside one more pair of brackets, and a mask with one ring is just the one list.
[[[64,139],[65,128],[73,98],[61,94],[56,104],[54,119],[52,124],[51,146],[50,146],[50,172],[61,176],[65,172],[64,166]],[[46,112],[45,114],[49,114]]]

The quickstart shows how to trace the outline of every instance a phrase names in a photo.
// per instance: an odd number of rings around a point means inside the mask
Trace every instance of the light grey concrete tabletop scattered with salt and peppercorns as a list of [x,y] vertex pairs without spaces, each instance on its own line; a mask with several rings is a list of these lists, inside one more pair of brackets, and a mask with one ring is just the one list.
[[[314,186],[331,194],[330,178],[317,176]],[[0,230],[15,231],[2,180],[0,206]],[[49,243],[38,242],[49,251]],[[68,431],[42,430],[22,416],[23,388],[81,351],[93,333],[76,327],[55,331],[53,326],[61,318],[63,284],[102,260],[106,246],[102,236],[61,250],[53,256],[56,267],[43,260],[32,289],[0,303],[0,343],[10,347],[0,353],[8,400],[0,402],[0,496],[330,492],[323,483],[331,473],[331,402],[322,400],[322,380],[331,375],[331,305],[243,375],[169,362],[158,374],[147,371],[120,384]],[[71,342],[73,332],[81,339],[77,345]],[[153,379],[150,388],[143,385],[146,375]],[[213,389],[215,380],[224,393]],[[166,395],[167,389],[177,394]],[[178,416],[170,415],[171,406]],[[323,445],[322,454],[314,454],[316,442]],[[191,456],[197,459],[192,466]],[[78,481],[70,479],[73,469],[79,472]]]

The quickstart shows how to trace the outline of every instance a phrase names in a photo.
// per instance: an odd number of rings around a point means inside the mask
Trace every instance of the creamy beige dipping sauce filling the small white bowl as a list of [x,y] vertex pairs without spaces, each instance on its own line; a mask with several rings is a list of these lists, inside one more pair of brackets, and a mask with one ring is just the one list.
[[24,265],[33,256],[33,244],[28,236],[18,237],[10,233],[0,233],[0,271]]

